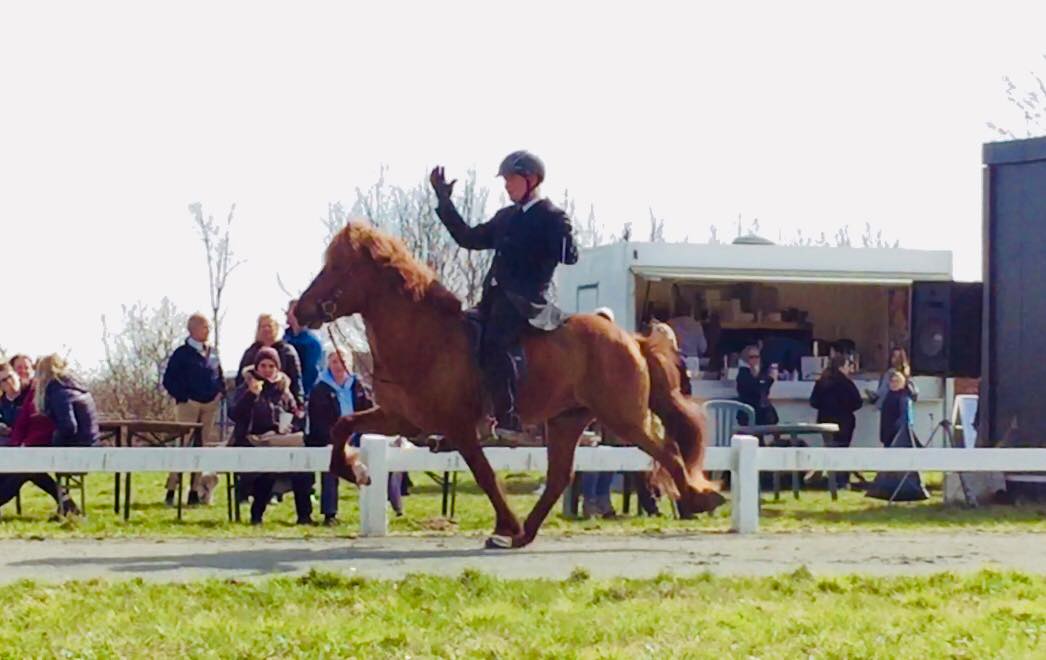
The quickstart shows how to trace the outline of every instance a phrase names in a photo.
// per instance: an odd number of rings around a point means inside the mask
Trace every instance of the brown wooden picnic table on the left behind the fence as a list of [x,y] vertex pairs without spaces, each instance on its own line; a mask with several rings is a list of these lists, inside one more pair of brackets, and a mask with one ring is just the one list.
[[[201,447],[203,425],[162,419],[104,419],[99,443],[112,447]],[[120,513],[120,475],[115,475],[113,513]],[[123,520],[131,518],[131,473],[123,475]],[[178,475],[178,520],[182,519],[182,475]]]

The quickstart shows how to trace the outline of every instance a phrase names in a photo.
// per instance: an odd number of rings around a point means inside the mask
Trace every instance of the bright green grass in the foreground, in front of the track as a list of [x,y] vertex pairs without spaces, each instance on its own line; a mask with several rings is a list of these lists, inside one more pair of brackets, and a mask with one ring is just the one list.
[[5,658],[1041,658],[1046,644],[1046,577],[987,571],[18,583],[0,609]]

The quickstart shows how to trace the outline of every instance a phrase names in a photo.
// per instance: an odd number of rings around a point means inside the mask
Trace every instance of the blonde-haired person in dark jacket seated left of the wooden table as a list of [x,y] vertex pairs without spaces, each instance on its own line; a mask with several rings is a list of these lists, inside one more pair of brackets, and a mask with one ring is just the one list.
[[37,365],[33,404],[54,423],[54,447],[90,447],[98,440],[98,414],[94,397],[53,354]]

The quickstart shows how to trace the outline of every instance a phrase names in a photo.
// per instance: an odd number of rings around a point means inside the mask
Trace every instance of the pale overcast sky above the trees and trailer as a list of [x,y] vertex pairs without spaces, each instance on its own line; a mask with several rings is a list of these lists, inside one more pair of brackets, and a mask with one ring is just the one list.
[[206,308],[187,205],[236,203],[231,363],[276,273],[317,270],[329,202],[382,164],[498,190],[521,147],[608,233],[867,222],[976,279],[985,122],[1023,131],[1001,78],[1046,72],[1041,2],[363,5],[5,3],[0,346],[93,365],[122,303]]

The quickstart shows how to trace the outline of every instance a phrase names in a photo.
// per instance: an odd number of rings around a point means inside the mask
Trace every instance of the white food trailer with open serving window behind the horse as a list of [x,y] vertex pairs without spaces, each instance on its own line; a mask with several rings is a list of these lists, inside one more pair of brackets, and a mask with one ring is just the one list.
[[[705,337],[703,352],[687,359],[699,401],[736,399],[738,356],[758,345],[764,364],[777,363],[781,374],[770,391],[781,422],[813,422],[810,394],[829,346],[851,356],[859,391],[874,391],[890,348],[909,345],[912,283],[951,279],[949,251],[778,246],[745,236],[727,245],[586,249],[576,265],[559,269],[556,296],[567,312],[610,308],[631,332],[651,319],[692,318]],[[914,382],[915,430],[926,441],[947,418],[953,388],[942,378]],[[879,445],[870,401],[857,413],[852,445]]]

